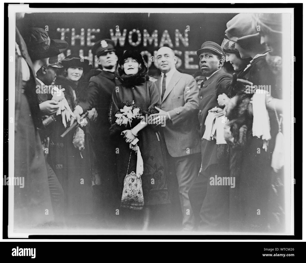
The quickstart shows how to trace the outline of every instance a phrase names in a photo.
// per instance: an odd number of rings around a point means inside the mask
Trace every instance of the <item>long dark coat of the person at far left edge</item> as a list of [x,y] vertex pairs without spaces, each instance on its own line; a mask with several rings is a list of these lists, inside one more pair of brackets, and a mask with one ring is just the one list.
[[[39,83],[35,81],[26,44],[17,28],[16,43],[21,55],[16,53],[14,177],[24,178],[24,188],[14,186],[14,227],[29,227],[50,222],[54,217],[46,162],[37,130],[41,127],[39,100],[35,93]],[[28,81],[22,81],[22,58],[30,70]]]

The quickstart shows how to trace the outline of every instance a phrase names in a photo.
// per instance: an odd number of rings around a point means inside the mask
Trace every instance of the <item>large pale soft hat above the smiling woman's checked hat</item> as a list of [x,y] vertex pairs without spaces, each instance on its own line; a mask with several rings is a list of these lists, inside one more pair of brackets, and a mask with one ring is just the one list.
[[240,13],[226,23],[225,35],[234,42],[252,41],[260,38],[259,32],[254,27],[252,21],[258,14]]

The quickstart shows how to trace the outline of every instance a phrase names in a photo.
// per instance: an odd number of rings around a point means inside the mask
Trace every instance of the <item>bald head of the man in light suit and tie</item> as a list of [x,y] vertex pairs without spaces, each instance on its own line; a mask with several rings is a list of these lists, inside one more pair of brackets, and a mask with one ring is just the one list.
[[177,58],[170,47],[161,47],[156,53],[159,69],[162,73],[167,73],[175,68]]

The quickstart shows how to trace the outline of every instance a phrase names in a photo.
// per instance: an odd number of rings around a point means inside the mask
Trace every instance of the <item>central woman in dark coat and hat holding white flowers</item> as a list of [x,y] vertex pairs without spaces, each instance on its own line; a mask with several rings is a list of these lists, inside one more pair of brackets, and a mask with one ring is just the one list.
[[[158,128],[155,125],[141,126],[141,124],[132,123],[132,127],[129,124],[126,127],[124,125],[118,126],[115,124],[115,114],[123,109],[127,101],[134,102],[134,105],[146,112],[147,116],[156,112],[154,107],[160,106],[159,92],[154,82],[148,81],[147,73],[147,63],[143,57],[135,51],[126,51],[117,62],[115,74],[121,83],[117,83],[110,107],[112,123],[110,134],[118,148],[117,172],[120,197],[125,175],[132,171],[136,172],[137,156],[133,150],[129,162],[132,148],[130,142],[135,138],[134,135],[137,135],[139,139],[137,145],[140,148],[144,163],[144,173],[141,175],[145,207],[143,229],[147,229],[151,205],[170,203],[166,182],[164,148]],[[128,130],[125,137],[121,135],[123,130]],[[128,214],[129,219],[131,219],[131,215],[138,217],[138,220],[141,217],[139,211],[135,210],[129,211]]]

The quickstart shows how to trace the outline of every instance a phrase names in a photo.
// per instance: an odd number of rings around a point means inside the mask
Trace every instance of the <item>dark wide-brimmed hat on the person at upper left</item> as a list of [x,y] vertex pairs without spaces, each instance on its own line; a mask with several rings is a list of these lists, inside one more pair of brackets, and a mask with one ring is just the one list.
[[61,39],[50,39],[43,28],[29,28],[24,41],[32,60],[54,57],[64,52],[68,43]]

